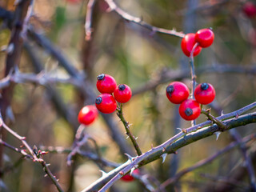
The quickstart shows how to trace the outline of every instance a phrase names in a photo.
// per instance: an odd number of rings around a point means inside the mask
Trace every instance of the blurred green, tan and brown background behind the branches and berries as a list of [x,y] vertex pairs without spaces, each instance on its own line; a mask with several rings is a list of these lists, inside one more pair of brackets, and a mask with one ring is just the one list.
[[[127,13],[142,18],[152,26],[196,33],[202,28],[212,27],[214,44],[203,49],[194,59],[197,82],[214,85],[216,98],[211,106],[214,116],[238,110],[255,101],[256,96],[256,18],[246,12],[250,1],[227,0],[139,0],[115,1]],[[34,0],[34,14],[30,24],[56,47],[66,60],[78,70],[79,77],[90,82],[95,95],[98,74],[110,74],[118,84],[125,83],[133,90],[133,97],[123,107],[125,118],[132,124],[131,131],[138,137],[142,151],[150,150],[178,133],[176,128],[190,127],[178,115],[178,106],[166,98],[166,86],[171,81],[182,81],[191,88],[189,58],[180,48],[182,38],[152,33],[132,22],[126,22],[111,12],[106,2],[95,2],[92,15],[93,34],[85,41],[85,18],[87,1],[82,0]],[[255,3],[255,1],[251,1]],[[14,11],[14,1],[0,0],[0,6]],[[3,23],[3,21],[2,21]],[[7,46],[10,30],[0,30],[0,46]],[[44,71],[49,77],[69,78],[70,75],[58,59],[34,38],[24,41],[21,73],[38,74]],[[33,57],[34,56],[34,57]],[[1,77],[4,77],[6,53],[0,54]],[[35,64],[38,62],[37,64]],[[39,66],[37,66],[39,65]],[[178,73],[187,72],[184,75]],[[176,74],[176,75],[175,75]],[[150,85],[153,84],[154,86]],[[83,86],[83,85],[82,85]],[[86,87],[86,84],[85,84]],[[40,86],[34,83],[16,84],[11,111],[6,120],[18,134],[25,136],[30,146],[62,146],[70,149],[78,129],[76,119],[82,106],[94,100],[81,93],[78,87],[68,83]],[[13,118],[11,118],[13,117]],[[116,114],[109,114],[122,140],[134,152],[125,129]],[[10,121],[12,120],[12,121]],[[197,123],[206,121],[201,115]],[[241,136],[255,132],[255,126],[237,129]],[[99,117],[93,125],[86,127],[86,133],[98,143],[102,156],[112,162],[122,163],[126,157],[111,137],[104,118]],[[209,157],[233,141],[229,132],[215,137],[204,138],[170,154],[166,162],[162,159],[142,167],[145,174],[154,175],[158,182],[182,168],[192,166]],[[12,146],[21,143],[7,134],[6,142]],[[250,143],[251,153],[255,143]],[[93,150],[93,146],[88,146]],[[255,156],[255,155],[254,155]],[[98,166],[88,158],[76,157],[73,166],[66,166],[67,153],[49,153],[43,156],[50,163],[50,170],[59,178],[65,191],[80,191],[101,176]],[[42,166],[30,160],[21,159],[20,154],[4,149],[1,191],[57,191],[50,178],[44,178]],[[255,160],[255,159],[254,159]],[[214,178],[229,177],[235,167],[243,161],[239,150],[232,150],[198,170],[181,178],[166,191],[221,191]],[[255,164],[254,164],[255,165]],[[10,167],[10,169],[7,169]],[[112,168],[106,168],[111,170]],[[3,171],[4,170],[4,171]],[[248,184],[244,174],[240,181]],[[245,191],[234,186],[230,191]],[[118,181],[113,191],[146,191],[138,181]],[[227,191],[227,190],[226,190]]]

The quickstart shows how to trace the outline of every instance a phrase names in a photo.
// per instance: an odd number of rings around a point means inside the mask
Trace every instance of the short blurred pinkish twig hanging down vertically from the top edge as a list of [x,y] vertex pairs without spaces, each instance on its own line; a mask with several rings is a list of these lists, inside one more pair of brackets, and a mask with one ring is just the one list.
[[86,30],[86,41],[90,41],[91,34],[92,34],[92,29],[91,29],[91,22],[92,22],[92,14],[93,14],[93,9],[95,5],[95,0],[89,0],[87,4],[87,9],[86,9],[86,23],[85,23],[85,30]]

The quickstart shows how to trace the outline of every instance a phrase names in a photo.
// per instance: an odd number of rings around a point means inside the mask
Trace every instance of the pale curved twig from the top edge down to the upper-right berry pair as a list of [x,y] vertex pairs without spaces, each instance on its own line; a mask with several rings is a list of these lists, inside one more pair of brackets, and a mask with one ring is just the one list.
[[168,34],[172,36],[176,36],[178,38],[184,38],[185,34],[182,32],[177,32],[176,30],[166,30],[163,28],[158,28],[156,26],[150,26],[150,24],[142,21],[141,18],[136,18],[128,13],[126,13],[125,10],[122,10],[113,0],[105,0],[105,2],[110,6],[111,10],[114,10],[119,16],[121,16],[123,19],[125,19],[128,22],[134,22],[135,24],[138,24],[139,26],[142,26],[148,30],[150,30],[154,34],[156,32],[160,34]]

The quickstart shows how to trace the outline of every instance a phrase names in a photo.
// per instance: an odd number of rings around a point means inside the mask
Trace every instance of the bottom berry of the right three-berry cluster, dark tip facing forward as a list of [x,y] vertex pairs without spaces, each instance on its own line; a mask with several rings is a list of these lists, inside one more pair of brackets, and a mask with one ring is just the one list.
[[179,106],[179,114],[182,118],[187,121],[194,120],[199,117],[201,113],[200,105],[194,99],[186,99],[182,104]]

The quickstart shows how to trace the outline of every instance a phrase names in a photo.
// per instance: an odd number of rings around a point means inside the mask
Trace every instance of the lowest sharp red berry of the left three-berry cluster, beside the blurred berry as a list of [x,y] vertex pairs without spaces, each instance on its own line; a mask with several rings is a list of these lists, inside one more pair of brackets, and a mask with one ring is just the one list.
[[95,106],[103,114],[111,114],[117,109],[117,102],[111,94],[100,94],[96,98]]

